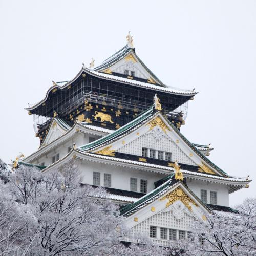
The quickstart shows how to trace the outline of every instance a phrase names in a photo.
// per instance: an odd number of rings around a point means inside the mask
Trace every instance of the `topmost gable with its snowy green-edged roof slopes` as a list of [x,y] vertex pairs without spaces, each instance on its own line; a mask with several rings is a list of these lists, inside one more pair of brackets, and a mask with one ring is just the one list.
[[[117,53],[113,54],[110,58],[106,59],[94,69],[98,72],[104,72],[107,74],[121,74],[126,75],[130,79],[144,79],[148,83],[163,85],[163,83],[148,69],[141,59],[136,55],[135,49],[130,48],[128,45],[123,47]],[[125,70],[129,71],[125,74]],[[131,74],[135,72],[134,75]]]

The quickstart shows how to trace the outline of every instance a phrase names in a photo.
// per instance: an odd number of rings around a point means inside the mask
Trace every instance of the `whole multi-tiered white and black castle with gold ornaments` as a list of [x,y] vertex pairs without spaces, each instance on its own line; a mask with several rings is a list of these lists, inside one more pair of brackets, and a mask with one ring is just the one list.
[[39,148],[14,167],[46,173],[74,159],[81,184],[105,187],[132,232],[165,246],[187,238],[189,223],[209,212],[234,212],[229,194],[250,180],[227,174],[207,157],[210,145],[185,137],[197,92],[166,86],[138,57],[130,33],[126,39],[99,66],[92,59],[26,109]]

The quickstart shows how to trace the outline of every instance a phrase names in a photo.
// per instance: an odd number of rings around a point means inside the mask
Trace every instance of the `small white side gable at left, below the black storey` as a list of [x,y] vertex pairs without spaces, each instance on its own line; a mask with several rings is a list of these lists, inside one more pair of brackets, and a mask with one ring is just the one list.
[[67,133],[70,129],[71,129],[71,127],[68,124],[66,124],[65,122],[63,122],[62,120],[53,118],[52,123],[50,125],[50,129],[47,133],[47,136],[46,136],[44,142],[42,142],[41,147],[56,140],[63,134]]

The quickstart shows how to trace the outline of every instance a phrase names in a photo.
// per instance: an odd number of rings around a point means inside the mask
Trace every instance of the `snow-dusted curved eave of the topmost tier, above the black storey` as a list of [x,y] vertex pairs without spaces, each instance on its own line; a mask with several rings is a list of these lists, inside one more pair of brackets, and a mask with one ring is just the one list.
[[99,77],[99,78],[106,78],[108,80],[111,81],[119,81],[122,83],[126,83],[126,84],[131,84],[133,86],[137,86],[137,87],[144,87],[144,88],[148,88],[148,89],[153,89],[156,91],[161,91],[161,92],[167,92],[167,93],[171,93],[171,94],[175,94],[175,95],[186,95],[186,96],[195,96],[197,94],[197,92],[193,92],[191,90],[180,90],[177,88],[171,88],[171,87],[161,87],[161,86],[155,86],[154,84],[150,84],[150,83],[146,83],[146,82],[141,82],[141,81],[136,81],[133,79],[128,79],[128,78],[123,78],[123,77],[119,77],[119,76],[114,76],[114,75],[110,75],[110,74],[105,74],[105,73],[100,73],[100,72],[96,72],[93,70],[90,70],[86,67],[82,67],[82,69],[79,71],[79,73],[69,82],[63,84],[63,86],[59,86],[58,84],[50,87],[46,93],[46,96],[44,99],[42,99],[41,101],[39,101],[38,103],[29,106],[29,108],[25,108],[25,110],[31,111],[35,108],[37,108],[37,106],[39,106],[40,104],[44,103],[48,96],[49,93],[54,90],[54,89],[65,89],[66,87],[68,87],[70,84],[72,84],[83,72],[87,73],[87,74],[91,74],[95,77]]

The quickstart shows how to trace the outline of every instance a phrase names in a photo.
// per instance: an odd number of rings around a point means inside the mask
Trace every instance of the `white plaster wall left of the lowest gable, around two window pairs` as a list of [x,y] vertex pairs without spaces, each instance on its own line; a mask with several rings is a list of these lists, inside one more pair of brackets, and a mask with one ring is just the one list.
[[100,185],[104,185],[104,173],[111,174],[111,187],[130,190],[130,178],[137,178],[137,191],[140,192],[140,179],[147,180],[147,191],[155,189],[154,182],[165,177],[163,174],[144,172],[121,166],[102,164],[91,161],[81,161],[79,166],[84,184],[93,185],[93,172],[100,172]]

